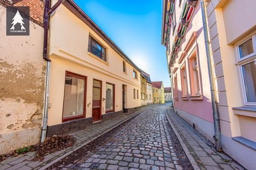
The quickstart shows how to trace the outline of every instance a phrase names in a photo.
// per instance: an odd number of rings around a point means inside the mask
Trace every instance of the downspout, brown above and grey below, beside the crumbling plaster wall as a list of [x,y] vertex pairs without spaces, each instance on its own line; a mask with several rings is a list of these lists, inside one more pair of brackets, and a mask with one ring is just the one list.
[[51,73],[51,60],[48,57],[48,40],[49,40],[49,19],[50,15],[62,4],[65,0],[60,0],[52,6],[51,0],[45,0],[44,7],[44,47],[43,47],[43,58],[46,60],[46,78],[45,78],[45,94],[44,94],[44,112],[43,112],[43,126],[41,131],[41,142],[46,138],[47,122],[48,122],[48,108],[49,108],[49,87],[50,87],[50,73]]

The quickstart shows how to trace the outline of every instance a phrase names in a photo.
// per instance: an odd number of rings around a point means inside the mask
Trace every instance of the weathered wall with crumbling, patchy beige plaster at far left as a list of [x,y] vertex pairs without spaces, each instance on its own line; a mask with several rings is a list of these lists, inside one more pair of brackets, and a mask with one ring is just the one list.
[[[42,25],[30,21],[29,36],[6,36],[6,7],[2,4],[4,2],[0,4],[0,155],[39,142],[45,82]],[[33,11],[31,6],[30,11]]]

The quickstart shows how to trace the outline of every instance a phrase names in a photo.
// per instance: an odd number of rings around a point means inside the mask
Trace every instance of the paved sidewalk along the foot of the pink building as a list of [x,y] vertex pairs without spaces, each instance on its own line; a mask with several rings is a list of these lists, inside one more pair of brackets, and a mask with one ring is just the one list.
[[194,169],[245,169],[226,154],[217,152],[211,141],[174,113],[170,106],[166,116]]

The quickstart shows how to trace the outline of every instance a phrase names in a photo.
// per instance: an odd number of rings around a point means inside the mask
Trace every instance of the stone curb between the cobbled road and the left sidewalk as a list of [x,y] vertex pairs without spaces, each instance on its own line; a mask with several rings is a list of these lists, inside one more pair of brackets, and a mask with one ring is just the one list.
[[80,145],[80,146],[76,147],[75,149],[70,150],[70,151],[69,151],[69,152],[67,152],[66,154],[64,154],[64,155],[60,156],[59,158],[57,158],[57,159],[55,159],[55,160],[53,160],[51,163],[49,163],[49,164],[47,164],[47,165],[45,165],[45,166],[43,166],[43,167],[39,168],[39,170],[43,170],[43,169],[46,169],[46,168],[48,168],[48,167],[52,166],[53,164],[55,164],[55,163],[59,162],[59,160],[61,160],[61,159],[65,158],[66,156],[68,156],[68,155],[72,154],[74,151],[76,151],[76,150],[78,150],[78,149],[80,149],[80,148],[84,147],[85,145],[87,145],[88,143],[92,142],[93,140],[95,140],[95,139],[97,139],[97,138],[101,137],[101,135],[103,135],[103,134],[105,134],[105,133],[107,133],[107,132],[109,132],[109,131],[111,131],[111,130],[115,129],[117,126],[119,126],[119,125],[121,125],[121,124],[123,124],[123,123],[125,123],[125,122],[127,122],[127,121],[129,121],[129,120],[131,120],[133,117],[138,116],[140,113],[142,113],[142,112],[146,111],[147,109],[149,109],[149,107],[148,107],[148,108],[143,109],[142,111],[139,111],[138,113],[134,114],[134,115],[133,115],[133,116],[131,116],[131,117],[126,118],[126,120],[124,120],[124,121],[122,121],[122,122],[120,122],[120,123],[118,123],[118,124],[116,124],[116,125],[112,126],[112,127],[111,127],[110,129],[108,129],[107,131],[105,131],[105,132],[103,132],[103,133],[100,133],[97,137],[94,137],[94,138],[90,139],[89,141],[87,141],[87,142],[83,143],[82,145]]

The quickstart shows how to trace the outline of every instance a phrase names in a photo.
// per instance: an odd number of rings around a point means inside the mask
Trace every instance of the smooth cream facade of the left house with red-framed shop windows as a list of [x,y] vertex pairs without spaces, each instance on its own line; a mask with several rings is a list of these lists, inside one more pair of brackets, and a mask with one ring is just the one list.
[[[78,15],[82,16],[79,12]],[[79,19],[64,5],[60,5],[51,16],[50,25],[49,56],[52,65],[49,126],[64,123],[62,111],[66,71],[87,77],[85,118],[92,117],[93,79],[102,81],[100,98],[102,116],[106,114],[106,83],[115,85],[114,112],[123,112],[122,91],[125,93],[125,109],[141,106],[140,71],[102,39],[99,31],[95,32],[90,25]],[[106,48],[106,62],[88,52],[89,36]],[[125,72],[123,72],[123,62],[125,62]],[[133,77],[133,71],[137,72],[137,78]]]

